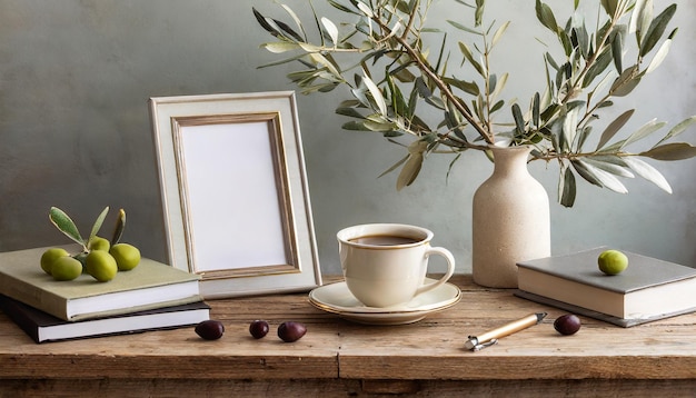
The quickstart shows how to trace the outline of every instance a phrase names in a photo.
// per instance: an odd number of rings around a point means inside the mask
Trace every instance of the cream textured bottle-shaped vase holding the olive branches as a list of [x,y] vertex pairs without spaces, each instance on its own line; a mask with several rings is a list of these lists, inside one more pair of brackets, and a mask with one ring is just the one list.
[[491,148],[490,178],[474,193],[473,276],[478,285],[517,287],[517,262],[550,256],[546,189],[527,171],[531,148]]

